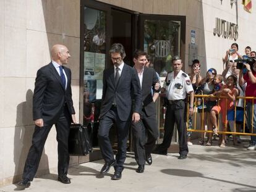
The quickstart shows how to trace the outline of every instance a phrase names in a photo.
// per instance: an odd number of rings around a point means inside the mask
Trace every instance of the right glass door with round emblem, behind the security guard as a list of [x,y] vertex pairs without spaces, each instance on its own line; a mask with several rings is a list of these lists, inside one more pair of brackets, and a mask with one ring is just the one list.
[[[139,17],[139,49],[144,50],[150,55],[151,66],[160,75],[160,84],[173,69],[171,60],[173,56],[184,58],[185,43],[185,17],[169,15],[140,15]],[[164,135],[164,118],[166,107],[163,98],[165,94],[161,93],[157,104],[157,118],[160,137],[158,143],[161,143]],[[176,139],[176,134],[174,134]]]

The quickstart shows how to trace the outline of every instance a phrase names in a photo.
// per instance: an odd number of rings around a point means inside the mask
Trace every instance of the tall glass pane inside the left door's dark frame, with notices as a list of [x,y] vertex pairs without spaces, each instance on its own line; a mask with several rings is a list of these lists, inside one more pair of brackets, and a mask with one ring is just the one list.
[[106,64],[106,12],[86,6],[84,9],[83,125],[90,127],[95,147]]

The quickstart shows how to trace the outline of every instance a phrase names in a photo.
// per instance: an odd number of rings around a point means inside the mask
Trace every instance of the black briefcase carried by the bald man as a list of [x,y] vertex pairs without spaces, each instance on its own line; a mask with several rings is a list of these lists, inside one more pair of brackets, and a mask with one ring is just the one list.
[[92,142],[87,127],[80,124],[71,124],[69,154],[71,156],[86,156],[89,152],[92,152]]

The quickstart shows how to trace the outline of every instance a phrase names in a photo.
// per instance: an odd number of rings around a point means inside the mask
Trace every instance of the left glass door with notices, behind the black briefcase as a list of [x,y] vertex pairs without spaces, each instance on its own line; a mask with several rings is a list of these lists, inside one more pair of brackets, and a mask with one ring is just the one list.
[[103,70],[108,65],[109,8],[94,1],[81,4],[80,48],[80,119],[88,127],[93,152],[79,157],[79,163],[101,159],[98,147],[98,117],[100,115]]

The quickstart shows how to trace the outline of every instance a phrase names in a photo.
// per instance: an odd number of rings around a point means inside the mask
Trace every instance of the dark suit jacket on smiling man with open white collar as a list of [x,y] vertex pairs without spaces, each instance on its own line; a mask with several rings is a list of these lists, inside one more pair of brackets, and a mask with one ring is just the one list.
[[[156,114],[155,103],[153,102],[152,88],[154,89],[155,84],[158,82],[158,77],[155,70],[144,67],[143,78],[142,78],[142,102],[143,109],[147,116]],[[160,89],[158,90],[158,92]]]

